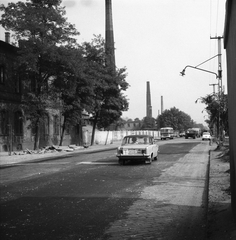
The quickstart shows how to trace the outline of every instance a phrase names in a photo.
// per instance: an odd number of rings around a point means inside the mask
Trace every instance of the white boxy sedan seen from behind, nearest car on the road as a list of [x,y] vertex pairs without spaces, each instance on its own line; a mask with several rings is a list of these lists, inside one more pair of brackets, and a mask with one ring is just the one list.
[[158,152],[159,146],[153,136],[128,135],[123,138],[116,156],[122,165],[126,161],[145,161],[151,164],[153,160],[157,160]]

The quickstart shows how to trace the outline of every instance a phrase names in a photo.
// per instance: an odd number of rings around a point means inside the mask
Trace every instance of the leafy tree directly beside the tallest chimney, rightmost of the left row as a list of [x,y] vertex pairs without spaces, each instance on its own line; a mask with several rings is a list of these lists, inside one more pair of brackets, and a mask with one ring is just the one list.
[[105,58],[105,42],[101,36],[95,36],[91,43],[83,43],[84,58],[86,60],[86,79],[91,83],[90,105],[86,109],[92,114],[93,131],[91,145],[93,145],[96,127],[106,128],[128,109],[128,101],[123,92],[128,88],[125,81],[126,69],[116,69],[114,73],[107,66]]

